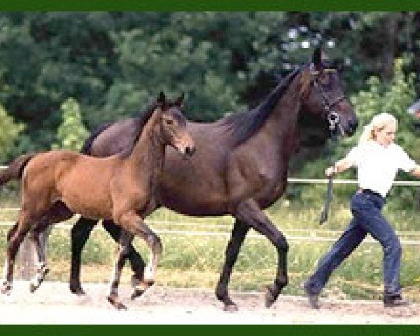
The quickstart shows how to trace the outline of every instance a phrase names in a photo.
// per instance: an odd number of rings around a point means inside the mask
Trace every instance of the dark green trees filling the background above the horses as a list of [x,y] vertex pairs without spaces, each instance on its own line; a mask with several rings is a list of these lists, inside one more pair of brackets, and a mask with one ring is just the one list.
[[[419,14],[348,12],[2,12],[0,102],[27,125],[17,151],[50,148],[59,106],[74,97],[92,129],[154,99],[186,93],[193,120],[257,104],[325,42],[346,93],[420,49]],[[388,29],[395,27],[395,29]],[[412,57],[407,70],[420,69]]]

